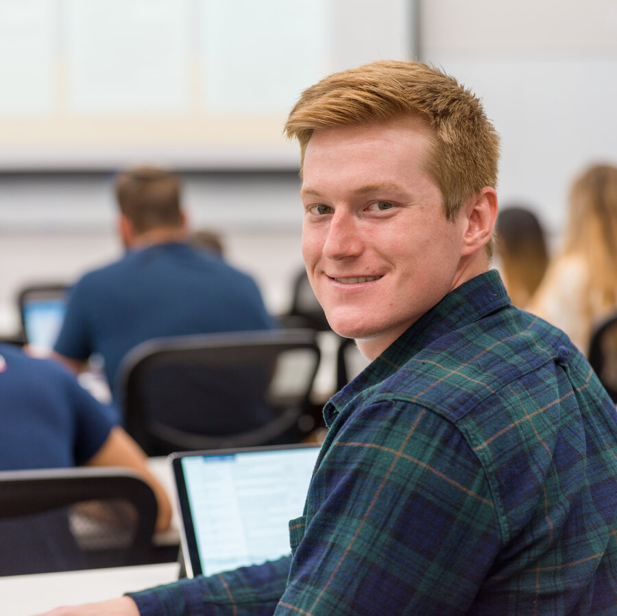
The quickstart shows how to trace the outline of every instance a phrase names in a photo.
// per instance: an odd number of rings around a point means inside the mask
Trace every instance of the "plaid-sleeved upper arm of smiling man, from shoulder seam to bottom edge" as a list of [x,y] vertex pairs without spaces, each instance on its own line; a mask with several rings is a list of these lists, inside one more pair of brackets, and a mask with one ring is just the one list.
[[412,403],[383,402],[330,431],[276,614],[467,613],[501,534],[457,428]]

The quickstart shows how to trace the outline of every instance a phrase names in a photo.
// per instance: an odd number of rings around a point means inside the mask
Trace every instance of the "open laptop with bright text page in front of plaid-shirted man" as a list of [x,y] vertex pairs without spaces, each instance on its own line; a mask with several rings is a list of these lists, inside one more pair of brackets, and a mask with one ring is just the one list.
[[317,454],[317,443],[171,454],[186,577],[289,554]]

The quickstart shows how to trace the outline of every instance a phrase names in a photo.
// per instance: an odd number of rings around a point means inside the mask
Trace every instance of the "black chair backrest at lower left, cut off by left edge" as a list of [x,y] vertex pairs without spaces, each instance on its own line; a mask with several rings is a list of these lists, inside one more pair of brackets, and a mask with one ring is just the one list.
[[126,469],[0,471],[0,575],[156,562],[157,510]]

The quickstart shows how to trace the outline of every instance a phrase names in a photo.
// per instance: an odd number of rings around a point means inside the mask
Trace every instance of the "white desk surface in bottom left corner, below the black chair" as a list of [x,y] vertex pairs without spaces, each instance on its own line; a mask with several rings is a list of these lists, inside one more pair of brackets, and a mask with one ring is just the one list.
[[63,571],[0,578],[1,612],[32,616],[60,605],[90,603],[120,597],[178,579],[178,563]]

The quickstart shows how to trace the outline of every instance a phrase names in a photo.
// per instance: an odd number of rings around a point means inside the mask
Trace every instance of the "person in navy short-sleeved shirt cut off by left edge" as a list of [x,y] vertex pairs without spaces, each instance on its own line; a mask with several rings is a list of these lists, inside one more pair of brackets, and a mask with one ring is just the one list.
[[[0,343],[0,420],[0,471],[78,465],[132,470],[154,491],[156,530],[169,528],[169,497],[149,471],[144,452],[114,424],[108,408],[57,362],[33,358],[19,347]],[[49,532],[47,514],[26,522],[0,521],[0,575],[29,573],[43,565],[49,570],[63,568],[71,543],[66,519],[63,524],[62,512],[58,515],[53,519],[59,526],[54,528],[66,530],[64,537]],[[19,547],[24,534],[32,552]]]

